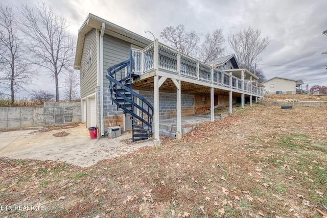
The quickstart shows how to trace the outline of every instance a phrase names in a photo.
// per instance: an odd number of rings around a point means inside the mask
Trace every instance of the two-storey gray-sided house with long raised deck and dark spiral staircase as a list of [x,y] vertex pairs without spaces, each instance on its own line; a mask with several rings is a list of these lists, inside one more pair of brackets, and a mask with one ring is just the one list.
[[176,117],[180,139],[181,116],[193,115],[197,104],[209,104],[214,121],[221,96],[230,112],[233,98],[244,107],[245,98],[263,97],[258,77],[239,69],[234,56],[209,65],[93,14],[79,29],[74,68],[81,76],[82,122],[97,126],[100,136],[120,126],[132,129],[133,141],[153,136],[158,144],[160,119]]

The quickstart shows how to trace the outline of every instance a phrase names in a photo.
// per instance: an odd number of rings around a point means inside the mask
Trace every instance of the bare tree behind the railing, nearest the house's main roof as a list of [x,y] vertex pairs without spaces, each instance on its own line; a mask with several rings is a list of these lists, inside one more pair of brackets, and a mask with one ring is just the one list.
[[170,43],[174,49],[180,49],[182,53],[193,57],[196,55],[196,47],[200,37],[196,35],[195,31],[186,32],[184,25],[178,25],[176,28],[166,27],[161,32],[160,37],[164,39],[165,43]]

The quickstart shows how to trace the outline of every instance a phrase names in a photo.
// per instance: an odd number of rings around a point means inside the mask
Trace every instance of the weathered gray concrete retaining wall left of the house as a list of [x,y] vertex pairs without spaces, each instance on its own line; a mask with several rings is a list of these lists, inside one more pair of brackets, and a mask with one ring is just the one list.
[[80,102],[44,102],[43,107],[0,108],[0,129],[80,122]]

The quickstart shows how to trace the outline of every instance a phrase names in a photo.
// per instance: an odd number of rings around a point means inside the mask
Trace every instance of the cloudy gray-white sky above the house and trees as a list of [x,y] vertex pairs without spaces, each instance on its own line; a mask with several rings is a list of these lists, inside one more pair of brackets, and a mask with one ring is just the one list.
[[[262,37],[271,40],[258,67],[266,78],[301,79],[309,88],[327,86],[327,30],[325,0],[45,0],[63,13],[71,24],[71,33],[77,35],[88,13],[153,39],[168,26],[183,24],[187,31],[194,30],[203,40],[204,35],[217,28],[223,30],[225,45],[233,53],[227,36],[248,27],[260,29]],[[31,0],[3,0],[3,5],[32,6]],[[160,41],[160,38],[159,38]],[[163,41],[163,40],[161,40]],[[49,89],[42,78],[30,89]],[[54,86],[54,85],[53,85]],[[304,89],[304,87],[303,87]]]

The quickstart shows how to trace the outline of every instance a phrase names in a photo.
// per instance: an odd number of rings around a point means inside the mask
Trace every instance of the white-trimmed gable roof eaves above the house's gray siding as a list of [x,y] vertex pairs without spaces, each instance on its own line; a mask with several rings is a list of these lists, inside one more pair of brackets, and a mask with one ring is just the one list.
[[105,34],[114,36],[116,38],[122,39],[127,42],[130,42],[131,44],[141,46],[141,47],[146,47],[151,42],[153,42],[150,39],[147,39],[141,35],[133,33],[125,28],[122,28],[118,25],[115,25],[112,22],[109,22],[105,19],[102,19],[101,17],[98,17],[98,16],[90,13],[86,17],[81,28],[78,30],[75,62],[74,62],[75,69],[80,68],[80,62],[81,62],[81,58],[82,58],[82,51],[83,51],[83,46],[84,46],[85,35],[93,28],[95,28],[97,30],[101,30],[102,23],[104,23],[104,25],[105,25],[105,30],[104,30]]

